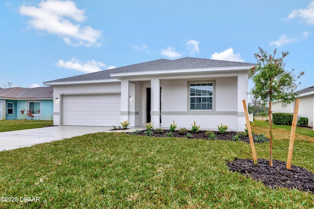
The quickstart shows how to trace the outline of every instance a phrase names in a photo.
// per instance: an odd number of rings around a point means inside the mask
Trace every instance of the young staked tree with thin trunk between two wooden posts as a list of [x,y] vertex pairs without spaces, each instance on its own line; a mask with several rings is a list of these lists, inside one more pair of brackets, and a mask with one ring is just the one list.
[[280,58],[275,58],[276,49],[273,54],[268,54],[267,51],[259,47],[259,53],[255,54],[258,64],[250,71],[254,82],[254,87],[250,93],[254,98],[260,99],[264,103],[269,103],[269,165],[273,165],[272,160],[272,130],[271,130],[271,102],[280,100],[282,106],[285,107],[295,100],[294,93],[296,79],[300,78],[304,71],[300,72],[296,77],[293,74],[294,69],[286,71],[284,58],[289,54],[288,51],[282,52]]

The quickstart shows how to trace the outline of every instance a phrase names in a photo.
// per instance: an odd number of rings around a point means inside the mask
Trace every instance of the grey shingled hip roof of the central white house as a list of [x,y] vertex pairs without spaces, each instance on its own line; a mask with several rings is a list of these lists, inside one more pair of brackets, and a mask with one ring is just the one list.
[[218,68],[218,67],[232,67],[232,66],[251,66],[253,63],[232,62],[223,60],[211,60],[202,58],[185,57],[176,60],[159,59],[125,67],[102,70],[83,75],[77,75],[68,78],[61,78],[50,82],[69,82],[69,81],[88,81],[88,80],[103,80],[112,79],[111,73],[119,72],[139,72],[139,71],[153,71],[153,70],[179,70],[179,69],[198,69],[198,68]]

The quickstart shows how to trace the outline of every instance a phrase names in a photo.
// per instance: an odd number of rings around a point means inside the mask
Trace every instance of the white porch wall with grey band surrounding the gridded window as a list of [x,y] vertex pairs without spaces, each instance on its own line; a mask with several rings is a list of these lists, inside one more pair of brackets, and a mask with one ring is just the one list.
[[[189,110],[190,81],[213,82],[212,111]],[[201,129],[217,130],[217,125],[222,123],[229,127],[229,131],[238,130],[237,77],[162,80],[161,88],[161,127],[169,128],[175,120],[178,128],[190,128],[195,120]],[[239,122],[241,121],[242,118]],[[243,127],[244,124],[245,120]]]

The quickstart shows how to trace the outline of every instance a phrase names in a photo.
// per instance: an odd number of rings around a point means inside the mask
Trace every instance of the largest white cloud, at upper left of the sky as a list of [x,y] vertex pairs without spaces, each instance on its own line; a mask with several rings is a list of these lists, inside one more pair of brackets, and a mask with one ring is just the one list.
[[89,25],[81,27],[69,20],[83,22],[86,19],[84,12],[71,0],[41,1],[38,7],[20,6],[20,14],[31,17],[27,23],[34,29],[55,34],[71,46],[100,46],[98,40],[102,36],[101,30],[95,30]]

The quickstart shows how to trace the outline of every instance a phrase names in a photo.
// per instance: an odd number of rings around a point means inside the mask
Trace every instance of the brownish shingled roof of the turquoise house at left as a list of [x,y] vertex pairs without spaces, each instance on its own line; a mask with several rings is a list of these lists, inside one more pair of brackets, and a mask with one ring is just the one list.
[[37,88],[21,88],[13,87],[0,89],[0,98],[12,99],[35,99],[35,98],[53,98],[52,87],[37,87]]

